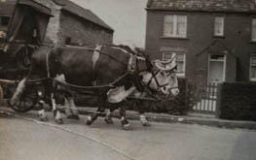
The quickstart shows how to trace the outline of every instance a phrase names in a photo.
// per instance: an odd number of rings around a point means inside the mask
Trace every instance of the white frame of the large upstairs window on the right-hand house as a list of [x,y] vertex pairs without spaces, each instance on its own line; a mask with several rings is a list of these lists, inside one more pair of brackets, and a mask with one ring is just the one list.
[[[168,18],[172,16],[172,21],[167,21]],[[178,33],[178,17],[184,17],[185,30],[184,35]],[[187,20],[186,15],[165,15],[164,17],[164,37],[173,37],[173,38],[187,38]],[[172,29],[172,32],[169,31]],[[170,32],[170,33],[169,33]]]

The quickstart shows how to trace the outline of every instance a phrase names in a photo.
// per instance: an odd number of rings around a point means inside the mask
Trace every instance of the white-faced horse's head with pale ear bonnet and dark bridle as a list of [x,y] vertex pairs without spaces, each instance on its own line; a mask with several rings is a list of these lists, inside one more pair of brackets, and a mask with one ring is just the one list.
[[[146,61],[148,59],[146,58]],[[176,58],[175,55],[168,61],[154,60],[152,66],[148,66],[148,71],[141,72],[142,83],[150,89],[160,91],[165,95],[179,94],[178,79],[176,77]]]

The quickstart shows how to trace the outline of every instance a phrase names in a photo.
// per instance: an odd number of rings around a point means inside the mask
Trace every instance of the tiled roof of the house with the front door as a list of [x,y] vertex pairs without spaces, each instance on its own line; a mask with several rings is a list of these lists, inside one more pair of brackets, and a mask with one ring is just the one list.
[[256,0],[148,0],[147,9],[256,13]]

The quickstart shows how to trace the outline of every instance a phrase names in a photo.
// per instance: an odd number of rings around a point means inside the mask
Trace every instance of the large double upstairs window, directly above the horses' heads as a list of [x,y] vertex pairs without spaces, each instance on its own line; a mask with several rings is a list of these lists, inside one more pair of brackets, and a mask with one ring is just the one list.
[[187,37],[187,16],[167,15],[164,19],[165,37]]

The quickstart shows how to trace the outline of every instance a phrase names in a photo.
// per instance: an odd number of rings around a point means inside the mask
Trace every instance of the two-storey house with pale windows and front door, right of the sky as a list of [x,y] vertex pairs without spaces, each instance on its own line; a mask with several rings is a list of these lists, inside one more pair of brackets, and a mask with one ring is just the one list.
[[148,0],[145,50],[199,84],[256,80],[256,1]]

